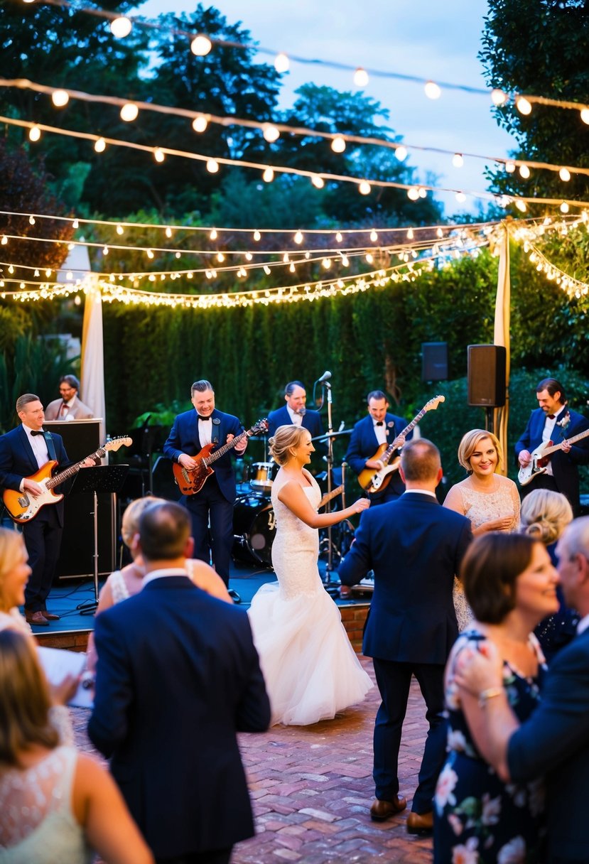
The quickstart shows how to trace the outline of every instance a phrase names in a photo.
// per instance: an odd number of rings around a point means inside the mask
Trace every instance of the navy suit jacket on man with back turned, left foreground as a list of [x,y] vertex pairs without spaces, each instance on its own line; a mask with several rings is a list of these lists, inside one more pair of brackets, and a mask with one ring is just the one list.
[[264,732],[270,709],[247,613],[168,575],[98,615],[95,634],[88,734],[155,857],[253,835],[236,733]]

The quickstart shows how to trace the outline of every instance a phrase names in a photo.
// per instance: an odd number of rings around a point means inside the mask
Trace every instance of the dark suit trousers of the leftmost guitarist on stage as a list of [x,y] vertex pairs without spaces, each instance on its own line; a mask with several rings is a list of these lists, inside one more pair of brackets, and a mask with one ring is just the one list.
[[55,509],[57,506],[42,507],[32,522],[22,526],[28,566],[32,570],[24,589],[24,607],[28,612],[41,612],[46,608],[53,585],[63,534]]

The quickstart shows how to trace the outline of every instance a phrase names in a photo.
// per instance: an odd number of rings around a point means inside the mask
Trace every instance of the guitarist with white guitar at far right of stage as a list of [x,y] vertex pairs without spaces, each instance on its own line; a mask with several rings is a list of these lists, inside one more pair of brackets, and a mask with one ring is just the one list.
[[567,408],[564,388],[555,378],[543,378],[536,387],[538,408],[529,416],[522,437],[516,443],[516,456],[522,467],[527,467],[535,448],[548,441],[562,447],[551,454],[545,473],[537,473],[534,479],[521,489],[522,498],[533,489],[552,489],[567,497],[573,513],[580,515],[579,465],[589,462],[589,436],[577,444],[569,444],[567,438],[578,435],[589,428],[589,421],[582,414]]

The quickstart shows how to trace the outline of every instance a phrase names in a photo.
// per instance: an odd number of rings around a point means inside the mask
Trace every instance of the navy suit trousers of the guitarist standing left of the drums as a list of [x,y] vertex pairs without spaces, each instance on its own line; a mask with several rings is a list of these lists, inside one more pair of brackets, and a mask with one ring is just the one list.
[[218,575],[225,585],[229,585],[233,504],[219,489],[214,474],[206,480],[200,492],[189,495],[183,503],[193,523],[194,557],[207,564],[212,559]]

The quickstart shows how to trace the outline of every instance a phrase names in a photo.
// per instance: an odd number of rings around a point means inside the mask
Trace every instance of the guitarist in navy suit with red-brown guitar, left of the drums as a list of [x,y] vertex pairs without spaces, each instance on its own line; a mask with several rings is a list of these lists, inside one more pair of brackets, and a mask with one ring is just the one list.
[[[163,446],[164,455],[187,470],[196,466],[193,456],[198,456],[206,444],[215,443],[222,447],[244,431],[237,417],[215,408],[215,393],[209,381],[195,381],[190,396],[194,410],[185,411],[176,417],[168,441]],[[212,559],[214,568],[227,586],[236,498],[231,452],[241,456],[247,441],[245,436],[243,442],[214,463],[213,473],[199,492],[180,498],[180,504],[187,508],[193,523],[194,557],[207,564]],[[234,599],[237,596],[235,592],[230,591],[230,594]]]

